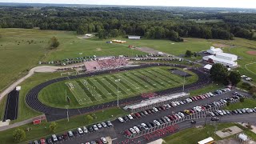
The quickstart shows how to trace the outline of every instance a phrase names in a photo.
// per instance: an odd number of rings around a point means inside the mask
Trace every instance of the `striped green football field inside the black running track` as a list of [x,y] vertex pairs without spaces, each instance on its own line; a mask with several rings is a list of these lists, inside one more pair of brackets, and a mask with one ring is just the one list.
[[[136,96],[142,93],[166,90],[182,86],[183,78],[168,71],[170,67],[152,67],[129,70],[115,74],[103,74],[90,78],[57,82],[46,86],[39,93],[39,100],[47,106],[65,107],[66,94],[70,107],[78,108]],[[190,74],[193,74],[190,72]],[[120,82],[116,80],[120,79]],[[185,78],[186,84],[195,82],[197,76]]]

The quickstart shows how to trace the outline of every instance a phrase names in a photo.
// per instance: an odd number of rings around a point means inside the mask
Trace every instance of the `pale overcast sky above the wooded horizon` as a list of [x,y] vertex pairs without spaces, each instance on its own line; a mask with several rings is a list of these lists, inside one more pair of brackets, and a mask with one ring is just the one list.
[[0,2],[256,8],[256,0],[0,0]]

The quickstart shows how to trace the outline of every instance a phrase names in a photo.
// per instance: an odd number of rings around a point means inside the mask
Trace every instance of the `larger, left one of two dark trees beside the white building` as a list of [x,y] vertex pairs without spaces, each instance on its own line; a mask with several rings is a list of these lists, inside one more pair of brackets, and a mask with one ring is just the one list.
[[216,63],[210,69],[210,77],[216,82],[226,82],[228,79],[228,70],[220,63]]

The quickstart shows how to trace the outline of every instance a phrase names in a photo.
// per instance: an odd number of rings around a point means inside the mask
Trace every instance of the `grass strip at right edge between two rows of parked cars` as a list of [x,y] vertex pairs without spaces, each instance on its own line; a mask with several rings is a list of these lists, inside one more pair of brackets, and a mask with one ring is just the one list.
[[246,98],[245,102],[232,103],[230,106],[225,106],[226,110],[236,110],[242,108],[254,108],[256,107],[256,100],[253,98]]

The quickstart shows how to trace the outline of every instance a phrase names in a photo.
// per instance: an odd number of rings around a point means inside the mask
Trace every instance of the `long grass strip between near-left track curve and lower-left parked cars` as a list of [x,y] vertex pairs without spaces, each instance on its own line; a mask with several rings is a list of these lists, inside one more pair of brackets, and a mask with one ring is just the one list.
[[[126,114],[126,112],[118,108],[105,110],[103,112],[98,111],[95,113],[97,118],[94,119],[93,122],[91,122],[90,124],[118,118],[118,116],[120,116],[121,114]],[[111,115],[113,115],[113,117]],[[86,123],[86,115],[72,117],[70,118],[70,122],[67,122],[67,119],[59,120],[56,122],[58,124],[58,128],[55,134],[62,134],[64,133],[64,131],[76,129],[80,126],[90,125]],[[24,126],[19,126],[18,128],[23,130],[26,130],[28,127],[32,128],[32,130],[26,131],[26,139],[24,140],[25,143],[26,141],[29,141],[31,139],[47,138],[48,136],[53,134],[49,130],[49,125],[50,122],[43,122],[42,124],[36,126],[34,126],[33,124],[26,124]],[[14,143],[12,139],[12,134],[16,129],[17,128],[0,132],[1,143]]]

